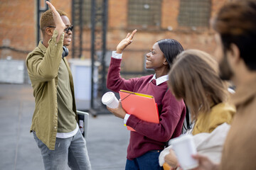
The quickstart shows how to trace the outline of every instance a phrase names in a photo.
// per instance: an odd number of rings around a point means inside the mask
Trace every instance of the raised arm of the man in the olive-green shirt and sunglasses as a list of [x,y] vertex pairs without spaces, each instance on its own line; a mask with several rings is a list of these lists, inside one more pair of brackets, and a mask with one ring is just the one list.
[[63,30],[65,29],[65,24],[55,7],[49,1],[46,1],[46,4],[48,4],[53,13],[55,31],[51,38],[45,38],[47,43],[47,46],[44,45],[47,48],[45,52],[33,51],[28,54],[26,59],[30,78],[39,81],[50,81],[58,75],[63,52]]

